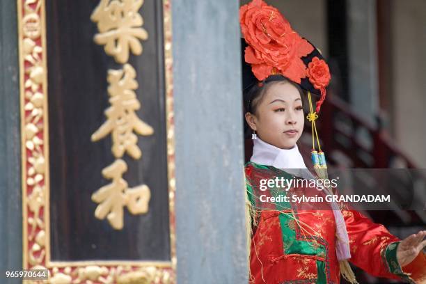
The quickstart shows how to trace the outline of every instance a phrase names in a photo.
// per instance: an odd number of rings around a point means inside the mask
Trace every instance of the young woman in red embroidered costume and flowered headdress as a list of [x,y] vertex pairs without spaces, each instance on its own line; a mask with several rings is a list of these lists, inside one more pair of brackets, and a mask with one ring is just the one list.
[[[310,109],[308,120],[317,136],[315,119],[331,79],[329,68],[318,50],[264,1],[242,6],[240,23],[246,45],[245,119],[253,131],[253,156],[245,166],[250,283],[340,283],[340,275],[357,283],[348,262],[374,276],[426,283],[426,231],[400,240],[349,207],[285,200],[320,192],[291,185],[292,180],[326,178],[323,153],[313,151],[313,175],[297,141],[303,107]],[[319,96],[315,111],[311,94]]]

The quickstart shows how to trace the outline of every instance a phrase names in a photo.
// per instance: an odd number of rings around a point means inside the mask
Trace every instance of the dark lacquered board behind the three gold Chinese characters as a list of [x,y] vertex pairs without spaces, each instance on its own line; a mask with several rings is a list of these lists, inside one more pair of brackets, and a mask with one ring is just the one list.
[[51,260],[170,260],[161,1],[143,3],[149,38],[141,56],[129,57],[139,83],[137,115],[155,133],[138,136],[141,159],[123,157],[129,186],[150,187],[150,209],[131,215],[125,208],[123,230],[94,216],[90,196],[109,183],[101,172],[114,157],[111,135],[95,143],[90,136],[106,120],[107,70],[123,67],[93,42],[90,15],[98,3],[46,1]]

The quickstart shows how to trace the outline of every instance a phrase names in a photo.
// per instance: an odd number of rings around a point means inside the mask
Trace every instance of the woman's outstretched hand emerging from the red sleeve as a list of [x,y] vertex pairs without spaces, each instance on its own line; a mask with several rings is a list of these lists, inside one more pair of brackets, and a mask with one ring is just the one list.
[[417,257],[418,253],[426,246],[426,231],[420,231],[400,242],[397,249],[397,260],[401,267],[409,265]]

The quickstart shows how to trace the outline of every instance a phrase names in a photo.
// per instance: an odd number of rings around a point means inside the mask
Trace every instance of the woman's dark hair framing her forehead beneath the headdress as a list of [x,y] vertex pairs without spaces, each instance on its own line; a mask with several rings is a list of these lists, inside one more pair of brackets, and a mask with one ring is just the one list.
[[[246,90],[243,90],[244,116],[247,112],[253,113],[254,115],[256,115],[258,105],[262,101],[263,97],[265,97],[265,94],[268,92],[269,88],[279,83],[292,84],[295,88],[297,88],[297,90],[299,90],[300,97],[302,100],[303,111],[308,112],[309,110],[309,107],[308,107],[309,103],[307,98],[308,96],[303,92],[300,86],[290,81],[283,75],[277,74],[277,75],[271,75],[267,77],[267,79],[260,81],[258,83],[255,83],[251,86],[248,86]],[[245,117],[243,119],[244,119],[244,138],[248,139],[251,136],[252,130],[248,126]]]

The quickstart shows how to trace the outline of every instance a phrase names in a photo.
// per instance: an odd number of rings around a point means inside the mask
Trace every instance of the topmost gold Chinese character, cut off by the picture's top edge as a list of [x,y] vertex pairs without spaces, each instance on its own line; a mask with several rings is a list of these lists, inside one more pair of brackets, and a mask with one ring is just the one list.
[[148,33],[142,28],[143,18],[138,13],[143,0],[101,0],[90,19],[97,23],[100,33],[95,35],[97,45],[105,45],[108,55],[118,63],[126,63],[129,49],[135,55],[142,54],[139,40],[147,40]]

